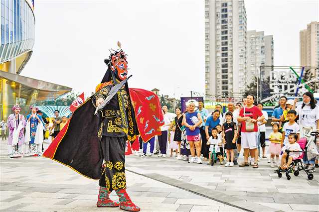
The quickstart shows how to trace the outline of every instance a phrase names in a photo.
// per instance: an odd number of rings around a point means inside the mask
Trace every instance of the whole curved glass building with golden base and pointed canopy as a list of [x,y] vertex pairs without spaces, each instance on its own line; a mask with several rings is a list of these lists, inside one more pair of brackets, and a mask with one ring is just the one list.
[[20,104],[21,112],[27,113],[29,105],[36,101],[55,100],[72,90],[19,75],[32,55],[33,3],[33,0],[0,0],[0,119],[6,120],[14,104]]

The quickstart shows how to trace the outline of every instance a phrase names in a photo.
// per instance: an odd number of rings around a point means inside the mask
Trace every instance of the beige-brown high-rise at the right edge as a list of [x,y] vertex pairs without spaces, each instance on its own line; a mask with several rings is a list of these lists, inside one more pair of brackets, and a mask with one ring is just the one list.
[[307,24],[300,33],[300,66],[319,66],[319,22]]

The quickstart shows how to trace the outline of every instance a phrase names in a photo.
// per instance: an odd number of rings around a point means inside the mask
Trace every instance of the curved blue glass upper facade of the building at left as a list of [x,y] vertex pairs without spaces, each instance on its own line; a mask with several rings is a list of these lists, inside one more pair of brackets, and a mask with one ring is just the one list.
[[0,64],[32,50],[35,18],[33,1],[0,0]]

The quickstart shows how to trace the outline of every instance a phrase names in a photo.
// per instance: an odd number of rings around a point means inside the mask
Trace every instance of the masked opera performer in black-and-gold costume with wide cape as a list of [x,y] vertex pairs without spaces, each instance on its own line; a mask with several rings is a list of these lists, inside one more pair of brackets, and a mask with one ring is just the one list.
[[[138,212],[140,208],[126,192],[126,142],[133,142],[139,134],[146,142],[160,135],[163,117],[153,92],[129,89],[126,54],[118,46],[104,60],[108,69],[96,93],[73,112],[43,156],[99,180],[97,207]],[[105,100],[109,102],[100,106]],[[94,115],[96,110],[98,115]],[[112,191],[119,202],[110,199]]]

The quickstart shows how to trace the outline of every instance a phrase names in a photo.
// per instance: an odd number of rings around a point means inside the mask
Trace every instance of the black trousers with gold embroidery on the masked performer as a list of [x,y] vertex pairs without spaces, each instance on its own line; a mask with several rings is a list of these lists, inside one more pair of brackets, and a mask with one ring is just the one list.
[[126,136],[102,136],[101,149],[104,157],[102,176],[99,181],[101,187],[108,191],[126,189],[125,177],[125,147]]

